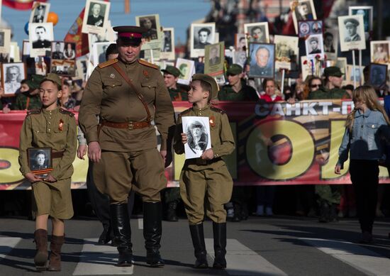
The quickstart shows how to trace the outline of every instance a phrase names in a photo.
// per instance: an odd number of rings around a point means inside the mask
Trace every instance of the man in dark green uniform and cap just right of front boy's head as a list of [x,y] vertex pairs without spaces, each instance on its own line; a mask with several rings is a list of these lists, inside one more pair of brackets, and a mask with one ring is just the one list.
[[243,67],[238,64],[230,65],[226,71],[229,84],[218,92],[220,101],[258,101],[256,90],[245,84]]

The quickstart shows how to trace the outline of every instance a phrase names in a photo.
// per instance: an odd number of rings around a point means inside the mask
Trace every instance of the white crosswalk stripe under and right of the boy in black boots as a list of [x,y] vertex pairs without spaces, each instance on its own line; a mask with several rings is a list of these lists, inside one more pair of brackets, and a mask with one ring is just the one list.
[[[213,239],[206,238],[206,250],[211,257],[214,257]],[[272,265],[267,260],[262,258],[255,251],[247,248],[245,245],[235,239],[228,239],[226,245],[226,261],[228,267],[226,272],[228,275],[238,276],[259,276],[272,275],[284,276],[287,275],[278,267]]]

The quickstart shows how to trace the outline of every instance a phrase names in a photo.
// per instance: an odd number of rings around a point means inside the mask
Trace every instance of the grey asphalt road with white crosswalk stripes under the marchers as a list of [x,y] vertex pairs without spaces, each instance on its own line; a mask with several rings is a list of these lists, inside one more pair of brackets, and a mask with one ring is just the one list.
[[[45,275],[390,275],[389,219],[374,224],[373,245],[355,243],[360,238],[357,220],[318,223],[293,216],[250,217],[228,223],[228,268],[195,270],[194,250],[185,219],[163,222],[161,254],[166,265],[145,264],[142,219],[132,219],[133,267],[116,267],[116,248],[96,245],[99,221],[66,222],[62,271]],[[0,218],[0,275],[37,275],[33,265],[33,221]],[[209,264],[213,262],[211,221],[205,222]]]

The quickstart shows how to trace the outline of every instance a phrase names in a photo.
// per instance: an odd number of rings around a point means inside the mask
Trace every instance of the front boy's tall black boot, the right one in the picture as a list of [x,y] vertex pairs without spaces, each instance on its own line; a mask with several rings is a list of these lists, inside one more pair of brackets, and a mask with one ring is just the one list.
[[214,234],[214,263],[213,268],[223,270],[226,268],[226,223],[213,222]]

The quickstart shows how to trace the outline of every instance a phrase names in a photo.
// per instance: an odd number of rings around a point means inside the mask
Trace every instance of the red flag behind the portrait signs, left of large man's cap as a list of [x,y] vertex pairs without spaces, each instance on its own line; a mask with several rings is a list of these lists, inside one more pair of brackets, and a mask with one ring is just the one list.
[[84,11],[79,14],[72,26],[69,28],[67,35],[65,35],[65,42],[76,43],[76,56],[81,57],[89,53],[88,33],[82,33],[82,21],[84,19]]

